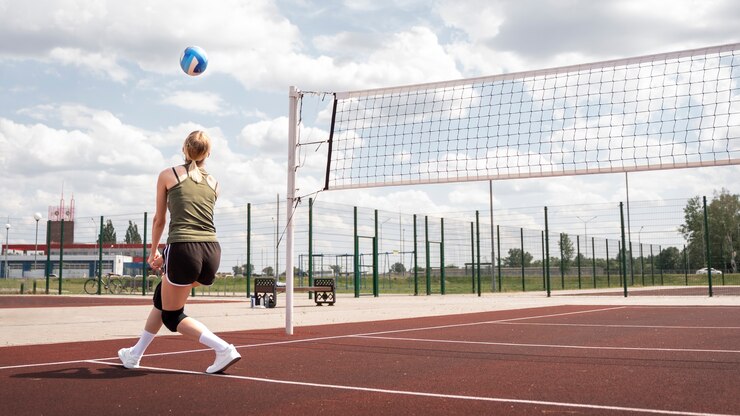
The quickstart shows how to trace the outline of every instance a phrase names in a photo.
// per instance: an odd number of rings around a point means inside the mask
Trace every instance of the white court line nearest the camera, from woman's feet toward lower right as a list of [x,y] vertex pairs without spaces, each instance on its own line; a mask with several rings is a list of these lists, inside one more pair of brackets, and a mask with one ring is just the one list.
[[[86,362],[103,365],[120,366],[120,364],[111,364],[105,361],[99,360],[87,360]],[[469,400],[479,402],[496,402],[496,403],[516,403],[526,405],[540,405],[540,406],[554,406],[554,407],[570,407],[579,409],[591,409],[591,410],[612,410],[621,412],[638,412],[638,413],[651,413],[651,414],[662,414],[662,415],[683,415],[683,416],[738,416],[731,414],[720,414],[720,413],[697,413],[697,412],[683,412],[676,410],[663,410],[663,409],[647,409],[640,407],[622,407],[622,406],[607,406],[598,404],[585,404],[585,403],[567,403],[567,402],[550,402],[544,400],[524,400],[524,399],[507,399],[503,397],[486,397],[486,396],[467,396],[459,394],[441,394],[441,393],[429,393],[423,391],[410,391],[410,390],[390,390],[380,389],[374,387],[361,387],[361,386],[346,386],[340,384],[323,384],[323,383],[309,383],[304,381],[292,381],[292,380],[278,380],[271,378],[261,377],[249,377],[249,376],[237,376],[231,374],[206,374],[198,371],[189,370],[178,370],[173,368],[161,368],[161,367],[139,367],[140,369],[162,371],[168,373],[179,373],[179,374],[191,374],[191,375],[205,375],[209,377],[224,377],[235,380],[243,381],[256,381],[262,383],[273,383],[273,384],[285,384],[291,386],[302,386],[302,387],[316,387],[325,389],[335,390],[349,390],[349,391],[362,391],[370,393],[383,393],[383,394],[395,394],[404,396],[416,396],[416,397],[431,397],[437,399],[457,399],[457,400]]]

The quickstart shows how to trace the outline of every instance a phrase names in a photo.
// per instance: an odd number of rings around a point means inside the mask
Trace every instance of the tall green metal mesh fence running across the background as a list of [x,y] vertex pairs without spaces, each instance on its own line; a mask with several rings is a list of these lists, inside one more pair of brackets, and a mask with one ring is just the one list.
[[[303,201],[293,215],[295,284],[334,277],[338,292],[354,296],[740,295],[734,200],[721,193],[630,206],[524,207],[494,210],[493,224],[489,212],[430,215]],[[285,210],[280,201],[218,208],[220,274],[194,295],[247,296],[256,276],[284,280]],[[87,284],[94,294],[148,295],[158,282],[145,262],[150,213],[8,221],[11,250],[3,244],[0,257],[5,292],[22,285],[24,292],[82,294]],[[166,238],[165,230],[162,243]]]

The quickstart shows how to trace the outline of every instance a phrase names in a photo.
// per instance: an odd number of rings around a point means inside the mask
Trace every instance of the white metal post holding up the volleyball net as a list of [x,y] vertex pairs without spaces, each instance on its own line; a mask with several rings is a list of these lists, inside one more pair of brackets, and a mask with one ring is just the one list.
[[296,137],[300,92],[290,87],[288,94],[288,193],[285,210],[285,333],[293,335],[293,211],[295,207]]

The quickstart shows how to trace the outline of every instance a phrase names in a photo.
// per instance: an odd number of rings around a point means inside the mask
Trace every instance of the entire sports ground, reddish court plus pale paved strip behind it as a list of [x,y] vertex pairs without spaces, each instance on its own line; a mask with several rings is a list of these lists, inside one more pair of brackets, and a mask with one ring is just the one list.
[[0,414],[740,414],[736,296],[296,297],[293,336],[284,299],[198,301],[225,374],[164,331],[122,368],[144,299],[0,297]]

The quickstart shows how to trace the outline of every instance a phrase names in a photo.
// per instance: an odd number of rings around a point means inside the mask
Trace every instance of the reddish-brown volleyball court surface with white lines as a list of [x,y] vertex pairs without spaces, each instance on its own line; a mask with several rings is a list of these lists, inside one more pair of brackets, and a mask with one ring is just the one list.
[[0,414],[739,414],[740,307],[560,306],[0,348]]

